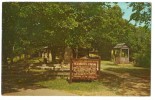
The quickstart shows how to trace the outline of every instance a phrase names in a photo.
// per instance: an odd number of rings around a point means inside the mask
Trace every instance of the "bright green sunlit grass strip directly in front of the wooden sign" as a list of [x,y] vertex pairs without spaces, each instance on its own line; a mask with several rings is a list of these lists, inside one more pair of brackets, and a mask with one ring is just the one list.
[[65,79],[55,79],[49,81],[38,82],[37,84],[43,85],[52,89],[61,90],[80,90],[80,91],[98,91],[101,90],[102,85],[97,82],[73,82],[69,83]]

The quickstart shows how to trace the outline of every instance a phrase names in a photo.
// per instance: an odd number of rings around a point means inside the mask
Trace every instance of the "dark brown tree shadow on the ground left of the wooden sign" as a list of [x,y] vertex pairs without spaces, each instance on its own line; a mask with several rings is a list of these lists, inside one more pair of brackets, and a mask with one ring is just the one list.
[[[40,64],[38,64],[40,65]],[[45,88],[35,84],[36,82],[56,79],[60,71],[29,71],[27,64],[14,64],[13,67],[2,67],[2,94],[18,92],[19,89]],[[68,72],[64,72],[68,73]]]

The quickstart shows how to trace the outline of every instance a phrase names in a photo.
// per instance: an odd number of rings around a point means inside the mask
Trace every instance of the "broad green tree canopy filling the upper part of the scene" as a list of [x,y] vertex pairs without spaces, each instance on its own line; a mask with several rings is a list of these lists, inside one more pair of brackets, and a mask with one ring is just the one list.
[[[2,6],[4,64],[8,58],[33,54],[44,46],[51,47],[52,53],[65,46],[93,48],[103,59],[110,59],[113,46],[126,43],[131,49],[130,58],[140,66],[150,66],[150,28],[135,27],[123,19],[117,4],[3,2]],[[149,3],[131,3],[129,7],[134,12],[130,20],[150,27]],[[145,58],[149,63],[141,64]]]

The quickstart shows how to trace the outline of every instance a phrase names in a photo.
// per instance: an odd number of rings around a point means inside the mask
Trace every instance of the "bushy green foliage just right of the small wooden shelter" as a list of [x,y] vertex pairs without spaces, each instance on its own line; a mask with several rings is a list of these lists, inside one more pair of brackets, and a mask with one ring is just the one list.
[[136,66],[150,67],[151,65],[151,32],[144,27],[136,28],[134,34],[130,34],[129,46],[131,57]]

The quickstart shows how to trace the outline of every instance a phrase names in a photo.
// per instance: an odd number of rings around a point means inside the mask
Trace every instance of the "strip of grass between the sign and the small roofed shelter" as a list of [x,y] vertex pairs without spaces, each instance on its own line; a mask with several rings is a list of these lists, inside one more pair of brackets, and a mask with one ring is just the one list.
[[114,64],[110,61],[101,62],[101,71],[112,71],[120,74],[128,73],[131,76],[139,78],[150,78],[151,69],[150,67],[136,67],[132,63],[130,64]]

